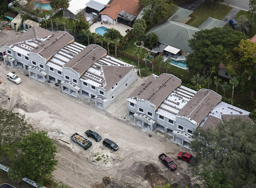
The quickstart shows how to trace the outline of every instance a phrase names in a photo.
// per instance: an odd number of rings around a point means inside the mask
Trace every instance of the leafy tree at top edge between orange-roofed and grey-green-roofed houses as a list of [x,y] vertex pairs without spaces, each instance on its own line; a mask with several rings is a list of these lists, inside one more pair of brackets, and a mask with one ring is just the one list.
[[172,0],[139,0],[139,4],[144,7],[143,19],[149,23],[157,23],[162,19],[167,19],[177,9]]

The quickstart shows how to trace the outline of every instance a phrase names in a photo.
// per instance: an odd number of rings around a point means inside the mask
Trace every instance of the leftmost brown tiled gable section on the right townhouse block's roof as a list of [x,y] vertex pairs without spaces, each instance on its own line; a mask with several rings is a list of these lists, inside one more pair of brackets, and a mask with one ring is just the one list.
[[172,74],[161,74],[157,78],[151,75],[130,94],[129,98],[137,96],[153,103],[158,108],[164,99],[180,85],[181,80]]

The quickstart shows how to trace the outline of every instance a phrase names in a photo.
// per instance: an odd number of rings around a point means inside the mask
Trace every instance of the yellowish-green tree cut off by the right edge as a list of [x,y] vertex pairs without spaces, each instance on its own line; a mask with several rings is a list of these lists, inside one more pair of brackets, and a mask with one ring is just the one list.
[[[256,43],[250,40],[241,40],[238,47],[223,61],[226,72],[236,76],[241,92],[248,94],[256,88]],[[253,98],[253,97],[252,97]]]

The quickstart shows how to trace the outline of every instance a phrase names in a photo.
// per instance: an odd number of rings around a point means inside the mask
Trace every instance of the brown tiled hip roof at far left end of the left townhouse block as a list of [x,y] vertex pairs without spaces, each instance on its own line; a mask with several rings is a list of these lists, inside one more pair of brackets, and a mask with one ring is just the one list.
[[43,29],[42,27],[39,27],[39,26],[33,26],[29,30],[27,30],[25,33],[23,33],[22,35],[18,36],[17,38],[13,39],[12,41],[8,42],[8,44],[6,44],[6,46],[10,46],[14,43],[22,42],[25,40],[30,40],[33,38],[42,39],[51,34],[53,34],[53,32]]

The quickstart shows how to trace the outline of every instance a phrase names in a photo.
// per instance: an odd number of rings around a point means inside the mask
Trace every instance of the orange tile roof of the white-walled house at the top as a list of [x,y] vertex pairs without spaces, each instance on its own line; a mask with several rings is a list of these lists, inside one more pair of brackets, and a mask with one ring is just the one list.
[[[115,11],[110,10],[110,8],[115,9]],[[122,10],[124,10],[126,13],[131,14],[133,16],[138,16],[138,14],[142,9],[143,9],[143,6],[139,5],[137,0],[113,0],[112,3],[110,4],[110,7],[102,11],[100,14],[106,14],[112,19],[114,18],[117,19],[117,15]]]

